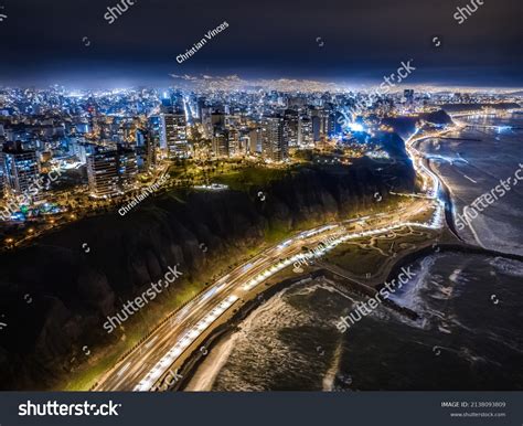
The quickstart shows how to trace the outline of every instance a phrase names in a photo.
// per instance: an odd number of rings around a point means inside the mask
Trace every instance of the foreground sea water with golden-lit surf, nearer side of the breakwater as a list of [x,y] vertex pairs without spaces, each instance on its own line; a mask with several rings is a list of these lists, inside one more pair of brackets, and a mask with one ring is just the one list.
[[522,268],[480,255],[427,257],[394,297],[419,320],[381,306],[344,333],[335,323],[360,296],[323,278],[295,285],[213,349],[189,390],[522,390]]

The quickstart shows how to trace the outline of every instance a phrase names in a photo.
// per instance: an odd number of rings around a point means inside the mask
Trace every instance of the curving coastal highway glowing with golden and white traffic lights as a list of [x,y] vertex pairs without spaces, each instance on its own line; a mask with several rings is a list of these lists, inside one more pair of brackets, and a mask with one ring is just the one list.
[[[439,136],[414,134],[406,148],[414,168],[423,179],[424,196],[392,213],[378,213],[362,219],[333,223],[302,232],[279,245],[265,249],[248,263],[215,281],[209,290],[189,302],[169,321],[161,324],[146,341],[116,364],[94,387],[95,391],[157,391],[168,388],[180,379],[178,369],[202,347],[206,337],[230,320],[237,308],[266,289],[263,284],[275,274],[303,257],[303,247],[322,244],[316,256],[322,256],[349,239],[386,233],[403,226],[438,230],[444,226],[445,204],[438,199],[439,179],[423,162],[413,147],[421,138]],[[434,209],[427,222],[412,219],[424,210]],[[371,223],[371,224],[370,224]],[[363,224],[363,225],[362,225]],[[393,224],[393,225],[391,225]]]

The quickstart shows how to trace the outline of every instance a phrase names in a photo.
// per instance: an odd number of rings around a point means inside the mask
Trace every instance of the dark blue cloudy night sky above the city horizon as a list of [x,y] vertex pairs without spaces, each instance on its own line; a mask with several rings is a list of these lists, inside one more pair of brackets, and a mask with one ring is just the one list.
[[134,0],[109,24],[120,1],[0,0],[0,85],[168,85],[169,73],[366,83],[413,60],[412,83],[523,86],[522,0],[483,0],[462,24],[453,14],[471,0]]

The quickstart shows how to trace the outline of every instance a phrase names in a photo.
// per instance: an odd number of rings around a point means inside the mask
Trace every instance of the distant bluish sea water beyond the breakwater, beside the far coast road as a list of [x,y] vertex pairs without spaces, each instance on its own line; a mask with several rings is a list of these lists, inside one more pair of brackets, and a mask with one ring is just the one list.
[[[462,214],[478,196],[490,192],[500,179],[514,175],[523,166],[523,115],[460,118],[473,127],[453,132],[456,139],[427,139],[420,150],[434,156],[431,163],[450,189],[455,214]],[[511,129],[482,126],[511,126]],[[523,175],[523,173],[520,173]],[[479,212],[460,232],[469,243],[505,253],[523,254],[523,181]]]

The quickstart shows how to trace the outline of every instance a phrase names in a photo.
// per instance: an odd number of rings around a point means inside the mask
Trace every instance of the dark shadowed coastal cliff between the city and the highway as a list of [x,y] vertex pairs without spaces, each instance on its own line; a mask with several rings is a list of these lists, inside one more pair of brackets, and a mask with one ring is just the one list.
[[0,387],[50,388],[72,359],[77,365],[93,347],[110,347],[116,337],[103,329],[106,317],[169,266],[179,264],[184,279],[209,279],[213,266],[232,264],[270,235],[369,211],[376,192],[387,202],[391,175],[396,190],[412,191],[415,173],[403,160],[387,175],[383,162],[362,158],[349,167],[301,167],[246,191],[171,191],[124,217],[116,211],[88,217],[1,254],[0,313],[8,327],[0,334]]

